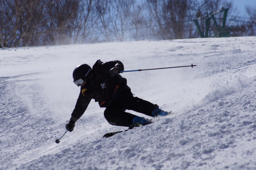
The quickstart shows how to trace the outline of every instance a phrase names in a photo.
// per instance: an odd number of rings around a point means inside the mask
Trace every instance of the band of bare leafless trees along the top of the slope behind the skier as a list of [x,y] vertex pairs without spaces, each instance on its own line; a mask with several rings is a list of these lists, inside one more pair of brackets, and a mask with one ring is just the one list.
[[246,16],[232,0],[0,0],[0,48],[200,38],[198,28],[255,36],[256,8],[244,8]]

